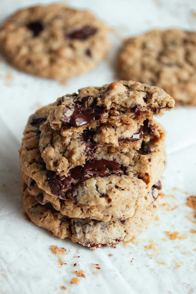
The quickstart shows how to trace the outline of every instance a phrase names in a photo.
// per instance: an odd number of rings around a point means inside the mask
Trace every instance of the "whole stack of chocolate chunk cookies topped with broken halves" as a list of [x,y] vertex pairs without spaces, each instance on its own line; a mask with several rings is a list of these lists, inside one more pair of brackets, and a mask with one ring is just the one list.
[[162,89],[133,81],[87,87],[33,114],[20,149],[24,209],[36,225],[90,248],[128,241],[158,209]]

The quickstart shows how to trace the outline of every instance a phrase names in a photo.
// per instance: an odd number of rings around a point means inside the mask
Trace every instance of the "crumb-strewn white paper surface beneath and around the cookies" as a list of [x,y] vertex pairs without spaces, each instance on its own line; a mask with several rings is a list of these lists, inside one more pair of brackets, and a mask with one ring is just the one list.
[[[16,9],[48,3],[1,0],[0,22]],[[115,57],[121,41],[117,35],[124,38],[153,28],[196,29],[195,0],[63,3],[89,9],[117,34],[111,37],[113,48],[106,61],[64,86],[0,63],[0,294],[196,293],[196,234],[190,232],[196,230],[196,218],[185,205],[188,196],[196,195],[196,108],[176,108],[159,119],[167,130],[165,196],[157,220],[133,242],[93,251],[52,236],[23,215],[18,149],[29,115],[66,93],[118,80]],[[171,240],[165,231],[179,232],[181,238]],[[56,256],[51,245],[66,248],[67,254]],[[59,257],[66,264],[60,266]],[[78,278],[77,285],[70,283],[76,277],[74,270],[86,275]]]

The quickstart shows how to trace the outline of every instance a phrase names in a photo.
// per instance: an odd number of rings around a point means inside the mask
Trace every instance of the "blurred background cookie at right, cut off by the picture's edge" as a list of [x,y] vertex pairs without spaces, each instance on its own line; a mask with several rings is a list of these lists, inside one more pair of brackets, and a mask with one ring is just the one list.
[[153,30],[126,39],[118,56],[120,78],[163,88],[176,105],[196,106],[196,32]]

